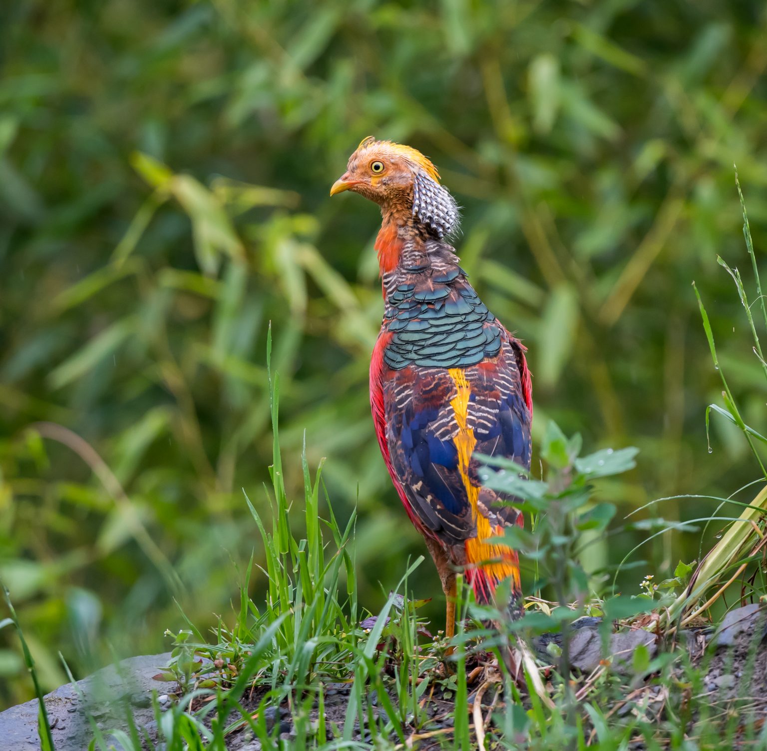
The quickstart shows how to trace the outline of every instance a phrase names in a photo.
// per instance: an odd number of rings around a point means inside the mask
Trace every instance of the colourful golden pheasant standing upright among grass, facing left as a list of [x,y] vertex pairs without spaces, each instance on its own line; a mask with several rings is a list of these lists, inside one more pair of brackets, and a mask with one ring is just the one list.
[[525,348],[469,284],[448,239],[458,229],[453,196],[415,149],[368,137],[331,196],[351,190],[380,206],[375,243],[384,321],[370,363],[370,404],[384,462],[410,521],[426,540],[455,630],[456,571],[476,601],[511,580],[518,555],[489,542],[522,513],[483,487],[475,453],[529,468],[532,388]]

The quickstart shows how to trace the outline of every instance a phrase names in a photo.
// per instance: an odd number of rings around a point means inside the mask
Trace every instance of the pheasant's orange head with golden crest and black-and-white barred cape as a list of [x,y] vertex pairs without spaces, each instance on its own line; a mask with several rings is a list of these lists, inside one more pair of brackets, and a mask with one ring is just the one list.
[[442,238],[458,229],[458,206],[439,184],[436,167],[420,151],[368,136],[349,157],[331,196],[353,190],[377,203],[384,214],[413,216]]

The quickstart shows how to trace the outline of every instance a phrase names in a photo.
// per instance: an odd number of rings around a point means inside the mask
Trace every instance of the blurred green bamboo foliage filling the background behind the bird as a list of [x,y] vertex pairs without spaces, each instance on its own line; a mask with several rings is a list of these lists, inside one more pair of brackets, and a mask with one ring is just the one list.
[[[463,265],[530,348],[536,436],[640,446],[602,489],[619,516],[758,476],[718,417],[707,450],[721,385],[691,282],[759,429],[716,254],[748,268],[733,163],[767,247],[763,3],[22,0],[0,40],[0,573],[46,687],[58,651],[82,675],[166,648],[174,594],[200,627],[230,618],[261,555],[242,489],[266,509],[268,321],[288,486],[305,430],[337,514],[359,509],[364,605],[425,552],[368,407],[380,216],[328,198],[370,134],[423,150],[464,207]],[[698,544],[666,535],[620,581]],[[0,707],[30,696],[17,647],[0,631]]]

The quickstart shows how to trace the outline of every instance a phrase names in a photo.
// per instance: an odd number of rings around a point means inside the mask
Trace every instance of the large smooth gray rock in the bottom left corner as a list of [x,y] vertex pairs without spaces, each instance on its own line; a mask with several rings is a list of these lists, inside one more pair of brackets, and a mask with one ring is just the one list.
[[[145,697],[158,687],[152,676],[169,659],[170,652],[130,657],[117,667],[104,667],[84,680],[67,683],[48,693],[45,707],[56,751],[87,748],[93,737],[89,714],[97,717],[100,726],[107,730],[125,730],[123,707],[126,703],[131,706],[139,728],[152,726],[154,713]],[[37,699],[0,713],[0,739],[4,749],[39,751]],[[117,751],[122,749],[114,739],[107,739],[107,743],[113,744]]]

